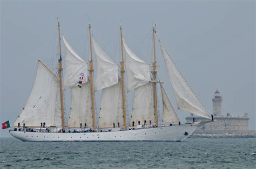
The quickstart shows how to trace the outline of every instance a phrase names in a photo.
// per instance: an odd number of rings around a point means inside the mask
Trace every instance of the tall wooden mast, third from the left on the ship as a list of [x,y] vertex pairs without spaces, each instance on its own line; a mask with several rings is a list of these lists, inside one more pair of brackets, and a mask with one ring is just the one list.
[[124,115],[124,129],[127,129],[126,122],[126,104],[125,104],[125,88],[124,88],[124,51],[123,51],[123,34],[122,26],[120,25],[120,34],[121,34],[121,51],[122,51],[122,62],[121,62],[121,78],[122,78],[122,97],[123,97],[123,115]]

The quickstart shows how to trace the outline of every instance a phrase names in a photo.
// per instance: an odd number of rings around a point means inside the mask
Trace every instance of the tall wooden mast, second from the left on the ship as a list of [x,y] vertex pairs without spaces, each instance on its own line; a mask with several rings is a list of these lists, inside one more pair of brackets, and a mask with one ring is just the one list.
[[94,88],[93,88],[93,60],[92,60],[92,36],[91,36],[91,24],[89,23],[89,33],[90,33],[90,82],[91,82],[91,103],[92,103],[92,125],[93,130],[96,130],[96,121],[95,121],[95,102],[94,102]]

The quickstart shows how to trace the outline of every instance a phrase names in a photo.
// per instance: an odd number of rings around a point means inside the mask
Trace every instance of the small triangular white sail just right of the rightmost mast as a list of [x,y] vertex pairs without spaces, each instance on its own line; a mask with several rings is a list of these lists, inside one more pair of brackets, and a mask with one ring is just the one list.
[[174,111],[172,104],[164,90],[164,87],[160,83],[160,88],[161,88],[161,95],[162,95],[162,101],[163,101],[163,121],[164,125],[170,125],[172,124],[178,124],[179,123],[179,118]]

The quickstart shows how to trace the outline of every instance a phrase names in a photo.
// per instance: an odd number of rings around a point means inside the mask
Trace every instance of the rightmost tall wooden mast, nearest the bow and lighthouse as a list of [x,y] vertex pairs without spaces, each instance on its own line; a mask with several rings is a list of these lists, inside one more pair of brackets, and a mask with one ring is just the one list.
[[[157,66],[156,66],[156,43],[154,41],[154,34],[156,33],[156,25],[153,26],[153,46],[154,46],[154,60],[152,63],[152,80],[156,81],[157,80]],[[157,111],[157,83],[154,82],[153,86],[153,92],[154,92],[154,114],[156,117],[156,125],[158,126],[158,111]]]

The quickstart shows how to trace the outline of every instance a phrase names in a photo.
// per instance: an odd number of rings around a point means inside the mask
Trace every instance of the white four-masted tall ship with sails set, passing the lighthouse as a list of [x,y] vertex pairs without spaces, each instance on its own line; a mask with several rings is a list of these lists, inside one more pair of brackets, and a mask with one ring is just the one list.
[[[147,64],[127,45],[120,25],[122,55],[117,64],[97,43],[89,23],[90,60],[86,62],[61,36],[58,21],[58,71],[55,73],[43,61],[38,61],[31,94],[11,126],[10,134],[23,141],[182,141],[190,136],[201,123],[180,123],[164,82],[157,76],[155,34],[156,25],[152,29],[153,59]],[[64,59],[61,40],[65,45]],[[209,119],[204,123],[213,121],[213,116],[188,86],[160,40],[159,44],[178,109]],[[94,58],[96,77],[93,76]],[[157,89],[160,89],[162,113],[159,112]],[[71,93],[69,119],[64,109],[63,90]],[[95,92],[100,90],[102,96],[97,113]],[[133,105],[129,114],[127,93],[131,91]]]

